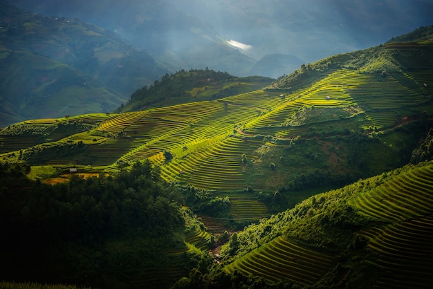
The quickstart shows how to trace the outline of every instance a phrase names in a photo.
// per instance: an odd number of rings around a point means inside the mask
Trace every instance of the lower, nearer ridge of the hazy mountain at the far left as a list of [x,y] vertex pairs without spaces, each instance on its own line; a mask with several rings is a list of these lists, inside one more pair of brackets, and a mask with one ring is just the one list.
[[[4,113],[21,119],[111,111],[123,96],[77,69],[30,53],[10,52],[0,73]],[[28,82],[23,85],[24,82]],[[8,124],[1,118],[1,126]]]

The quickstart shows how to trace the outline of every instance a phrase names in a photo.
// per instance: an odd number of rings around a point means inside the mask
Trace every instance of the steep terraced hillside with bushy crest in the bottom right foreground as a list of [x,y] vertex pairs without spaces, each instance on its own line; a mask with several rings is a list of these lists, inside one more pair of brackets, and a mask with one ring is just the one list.
[[432,181],[429,161],[308,198],[234,233],[221,263],[174,288],[430,288]]

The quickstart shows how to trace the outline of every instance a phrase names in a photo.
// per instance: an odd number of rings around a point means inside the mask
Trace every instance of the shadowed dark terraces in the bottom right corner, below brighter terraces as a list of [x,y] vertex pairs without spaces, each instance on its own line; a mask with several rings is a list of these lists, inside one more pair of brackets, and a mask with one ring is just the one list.
[[378,252],[374,263],[386,274],[376,288],[431,288],[433,219],[422,217],[363,232],[369,248]]

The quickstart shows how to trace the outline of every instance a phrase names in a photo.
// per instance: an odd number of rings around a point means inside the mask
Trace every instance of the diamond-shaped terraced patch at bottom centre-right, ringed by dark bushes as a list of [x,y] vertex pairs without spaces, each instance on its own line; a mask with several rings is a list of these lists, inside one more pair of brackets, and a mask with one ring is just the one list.
[[240,270],[268,281],[288,280],[308,286],[326,274],[333,263],[333,257],[279,236],[225,266],[225,270],[230,273]]

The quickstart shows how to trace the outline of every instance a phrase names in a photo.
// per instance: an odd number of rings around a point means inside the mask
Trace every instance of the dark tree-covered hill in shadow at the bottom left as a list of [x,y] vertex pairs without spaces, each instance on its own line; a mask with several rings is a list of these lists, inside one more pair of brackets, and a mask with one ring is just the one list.
[[165,251],[184,246],[189,213],[150,162],[58,185],[28,180],[26,165],[0,169],[0,279],[129,287],[125,276],[147,274],[151,264],[170,261]]

